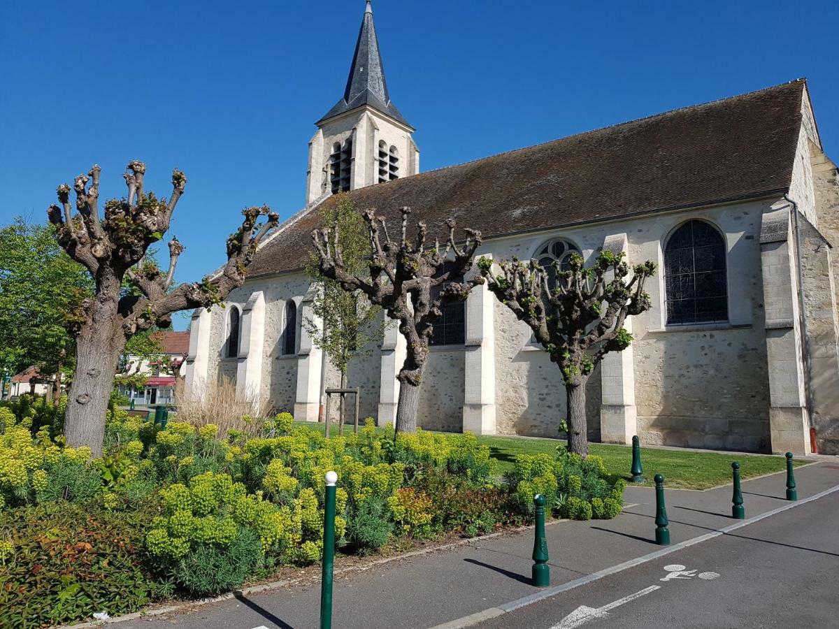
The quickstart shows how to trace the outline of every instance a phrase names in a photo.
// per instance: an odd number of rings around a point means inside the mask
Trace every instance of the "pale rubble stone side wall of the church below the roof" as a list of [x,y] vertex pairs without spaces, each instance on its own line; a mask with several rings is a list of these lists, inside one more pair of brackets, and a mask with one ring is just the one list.
[[[481,253],[492,254],[496,260],[529,258],[545,242],[563,237],[591,260],[607,236],[623,232],[631,263],[651,258],[662,265],[667,237],[682,222],[698,218],[716,225],[727,241],[730,321],[724,325],[668,326],[664,320],[664,277],[659,273],[650,281],[648,292],[654,308],[633,320],[636,340],[631,376],[636,431],[649,444],[762,451],[769,449],[769,376],[759,233],[762,213],[768,207],[768,202],[752,202],[500,238],[486,242]],[[237,304],[244,304],[253,291],[263,291],[262,392],[277,410],[294,408],[298,384],[299,357],[280,354],[284,307],[288,299],[299,304],[306,289],[305,276],[300,273],[252,280],[232,294]],[[555,437],[566,414],[558,367],[530,343],[529,330],[503,304],[493,300],[492,313],[496,431]],[[211,373],[235,377],[235,361],[220,360],[225,314],[221,309],[213,312]],[[464,348],[432,348],[420,402],[420,425],[424,428],[462,429],[465,356]],[[337,387],[337,373],[327,360],[324,369],[326,387]],[[381,351],[376,344],[370,356],[359,356],[349,370],[349,386],[362,387],[362,418],[378,413],[380,377]],[[598,439],[603,394],[599,369],[586,393],[589,434]]]

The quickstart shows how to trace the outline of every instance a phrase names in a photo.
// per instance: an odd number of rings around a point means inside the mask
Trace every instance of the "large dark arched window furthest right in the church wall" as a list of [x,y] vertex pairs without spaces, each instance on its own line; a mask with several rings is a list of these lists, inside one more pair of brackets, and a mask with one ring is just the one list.
[[664,249],[667,324],[728,320],[726,242],[704,221],[688,221]]

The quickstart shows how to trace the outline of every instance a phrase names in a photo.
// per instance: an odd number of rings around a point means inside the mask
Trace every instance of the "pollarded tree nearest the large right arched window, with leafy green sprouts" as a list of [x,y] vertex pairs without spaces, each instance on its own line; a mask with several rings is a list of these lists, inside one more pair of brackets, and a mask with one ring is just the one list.
[[591,268],[573,254],[566,269],[549,268],[536,260],[498,263],[481,258],[478,267],[488,288],[533,330],[539,344],[562,372],[568,401],[568,449],[588,455],[586,383],[597,363],[610,351],[622,351],[633,340],[623,327],[628,316],[650,307],[644,282],[654,275],[655,263],[638,264],[632,279],[623,253],[604,251]]

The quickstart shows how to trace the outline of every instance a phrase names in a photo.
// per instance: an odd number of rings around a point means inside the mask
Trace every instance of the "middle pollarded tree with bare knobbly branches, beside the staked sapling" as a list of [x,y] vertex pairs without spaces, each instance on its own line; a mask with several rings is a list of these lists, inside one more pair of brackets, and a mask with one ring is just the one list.
[[[472,258],[481,244],[480,231],[464,230],[466,241],[458,247],[455,221],[446,221],[449,237],[446,248],[441,251],[438,240],[434,247],[429,246],[423,221],[418,223],[416,243],[410,242],[407,236],[409,214],[409,208],[402,208],[402,237],[394,241],[388,234],[383,216],[376,216],[375,210],[364,212],[371,251],[370,277],[367,279],[362,278],[362,273],[353,273],[347,268],[341,256],[337,225],[312,231],[312,240],[320,257],[320,273],[340,283],[344,290],[362,291],[371,303],[381,306],[388,317],[399,322],[399,332],[405,337],[407,348],[404,365],[397,376],[400,386],[396,429],[413,433],[417,428],[420,382],[428,361],[434,324],[446,304],[463,301],[469,291],[484,280],[480,275],[463,279],[472,268]],[[449,257],[450,252],[454,252],[453,258]]]

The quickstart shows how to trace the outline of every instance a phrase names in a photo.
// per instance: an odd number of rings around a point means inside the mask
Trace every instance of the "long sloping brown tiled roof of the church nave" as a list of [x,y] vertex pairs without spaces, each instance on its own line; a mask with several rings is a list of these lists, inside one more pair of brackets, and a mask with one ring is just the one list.
[[[408,205],[412,223],[426,221],[431,237],[443,236],[454,217],[488,238],[780,193],[792,175],[804,91],[804,80],[792,81],[349,196],[388,221]],[[289,221],[257,253],[249,275],[305,266],[319,218],[315,208]]]

